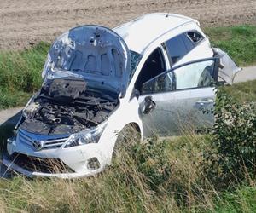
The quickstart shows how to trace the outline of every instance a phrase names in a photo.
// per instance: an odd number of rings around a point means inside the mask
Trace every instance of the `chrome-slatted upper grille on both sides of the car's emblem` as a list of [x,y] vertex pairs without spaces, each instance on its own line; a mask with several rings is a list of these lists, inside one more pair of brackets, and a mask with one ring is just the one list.
[[[30,137],[29,135],[26,135],[25,132],[19,131],[18,137],[19,137],[20,142],[26,143],[27,145],[35,147],[35,140],[33,140],[32,137]],[[58,148],[58,147],[61,147],[61,145],[65,141],[67,141],[67,137],[58,138],[58,139],[42,140],[41,149]]]

